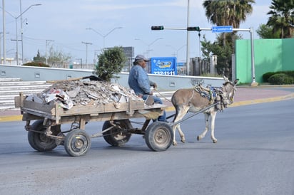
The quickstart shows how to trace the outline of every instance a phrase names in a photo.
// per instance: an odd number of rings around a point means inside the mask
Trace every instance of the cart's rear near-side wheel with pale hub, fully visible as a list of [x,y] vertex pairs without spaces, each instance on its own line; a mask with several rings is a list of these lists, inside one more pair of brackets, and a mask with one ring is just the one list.
[[88,152],[91,147],[91,138],[85,130],[72,130],[66,135],[64,148],[71,157],[79,157]]

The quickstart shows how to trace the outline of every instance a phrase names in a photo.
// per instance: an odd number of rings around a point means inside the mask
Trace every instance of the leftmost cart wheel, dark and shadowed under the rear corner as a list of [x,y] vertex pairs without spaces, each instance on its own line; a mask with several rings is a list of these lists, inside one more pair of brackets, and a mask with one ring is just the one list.
[[[36,120],[33,125],[31,125],[31,130],[28,132],[29,144],[32,148],[39,152],[47,152],[57,147],[54,139],[47,137],[45,135],[46,127],[43,125],[44,120]],[[51,127],[53,135],[58,135],[56,127]]]

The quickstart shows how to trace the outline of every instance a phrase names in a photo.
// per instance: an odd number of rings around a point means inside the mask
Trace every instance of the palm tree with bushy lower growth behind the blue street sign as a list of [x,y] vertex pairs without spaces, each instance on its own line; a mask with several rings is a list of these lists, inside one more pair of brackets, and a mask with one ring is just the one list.
[[[246,16],[253,11],[254,0],[242,1],[204,1],[203,7],[206,9],[208,21],[217,26],[233,26],[239,28],[240,23],[245,21]],[[229,38],[229,39],[228,39]],[[236,33],[221,33],[214,43],[201,42],[203,50],[209,49],[206,53],[213,53],[218,56],[217,70],[218,74],[225,73],[231,78],[231,56],[234,53],[234,42]],[[209,56],[206,56],[209,59]]]

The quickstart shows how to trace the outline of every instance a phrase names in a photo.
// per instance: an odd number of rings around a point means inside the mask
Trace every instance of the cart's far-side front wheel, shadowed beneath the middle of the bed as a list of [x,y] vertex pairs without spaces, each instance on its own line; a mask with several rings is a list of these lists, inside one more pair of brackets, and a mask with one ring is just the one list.
[[104,122],[102,130],[106,130],[109,127],[111,130],[103,132],[103,138],[108,144],[114,147],[120,147],[126,144],[131,138],[131,133],[127,132],[131,128],[131,122],[129,120],[114,120],[114,123],[119,124],[119,127],[114,127],[109,121]]

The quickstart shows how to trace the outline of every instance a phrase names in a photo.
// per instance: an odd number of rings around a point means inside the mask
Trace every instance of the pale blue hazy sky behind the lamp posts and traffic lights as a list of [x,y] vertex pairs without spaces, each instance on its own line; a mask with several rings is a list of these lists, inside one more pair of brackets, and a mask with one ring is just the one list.
[[[39,51],[45,56],[46,48],[72,56],[72,60],[93,62],[97,54],[113,46],[134,47],[134,54],[146,57],[178,57],[186,61],[187,31],[151,31],[151,26],[211,28],[203,9],[203,0],[4,0],[6,28],[6,58],[16,56],[16,21],[18,39],[23,32],[24,58],[32,59]],[[40,6],[31,6],[41,4]],[[240,28],[256,31],[268,21],[271,0],[255,0],[253,14],[247,16]],[[21,5],[21,9],[20,9]],[[30,7],[31,6],[31,7]],[[29,8],[30,7],[30,8]],[[28,9],[29,8],[29,9]],[[27,10],[26,10],[27,9]],[[3,4],[1,3],[1,56],[3,56]],[[22,14],[21,14],[22,12]],[[21,16],[21,17],[20,17]],[[18,19],[16,19],[18,18]],[[21,19],[22,18],[22,22]],[[93,30],[86,30],[92,28]],[[249,32],[240,32],[250,39]],[[201,55],[203,35],[208,41],[216,40],[211,31],[189,32],[189,56]],[[254,33],[254,38],[259,38]],[[12,40],[12,41],[11,41]],[[88,44],[87,44],[88,43]],[[18,45],[21,58],[21,41]]]

